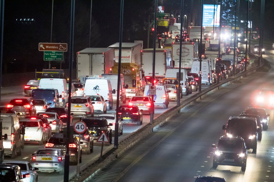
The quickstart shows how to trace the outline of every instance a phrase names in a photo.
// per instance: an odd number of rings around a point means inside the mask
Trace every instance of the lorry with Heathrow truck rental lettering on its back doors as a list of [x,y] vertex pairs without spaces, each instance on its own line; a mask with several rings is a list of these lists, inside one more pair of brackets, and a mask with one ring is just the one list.
[[[182,42],[182,63],[181,68],[191,69],[195,57],[194,42]],[[172,49],[172,68],[179,68],[180,42],[174,42]]]

